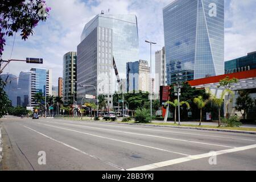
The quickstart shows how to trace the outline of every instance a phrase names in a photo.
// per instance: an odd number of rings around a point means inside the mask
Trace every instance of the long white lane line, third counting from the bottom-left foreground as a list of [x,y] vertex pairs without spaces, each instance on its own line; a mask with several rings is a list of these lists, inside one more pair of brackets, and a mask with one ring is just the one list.
[[[58,122],[51,122],[51,123],[57,123],[57,124],[59,124]],[[114,131],[114,132],[117,132],[117,133],[126,133],[126,134],[131,134],[131,135],[140,135],[140,136],[144,136],[144,137],[162,138],[162,139],[168,139],[168,140],[176,140],[176,141],[180,141],[180,142],[204,144],[204,145],[209,145],[209,146],[218,146],[218,147],[235,148],[235,147],[233,147],[233,146],[224,146],[224,145],[221,145],[221,144],[195,142],[195,141],[191,141],[191,140],[175,139],[175,138],[169,138],[169,137],[160,137],[160,136],[157,136],[157,135],[147,135],[147,134],[131,133],[131,132],[127,132],[127,131],[119,131],[119,130],[111,130],[111,129],[102,129],[102,128],[100,128],[100,127],[91,127],[91,126],[84,126],[84,125],[73,125],[73,124],[68,124],[68,123],[62,123],[62,125],[79,126],[79,127],[90,128],[90,129]]]

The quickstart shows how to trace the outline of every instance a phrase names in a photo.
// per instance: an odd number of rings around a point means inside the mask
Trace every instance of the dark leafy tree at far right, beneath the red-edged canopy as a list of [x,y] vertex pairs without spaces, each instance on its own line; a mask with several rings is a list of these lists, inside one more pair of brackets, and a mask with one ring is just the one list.
[[253,109],[253,99],[250,97],[249,92],[241,90],[238,92],[239,96],[236,101],[236,110],[240,111],[243,119],[246,118],[250,109]]

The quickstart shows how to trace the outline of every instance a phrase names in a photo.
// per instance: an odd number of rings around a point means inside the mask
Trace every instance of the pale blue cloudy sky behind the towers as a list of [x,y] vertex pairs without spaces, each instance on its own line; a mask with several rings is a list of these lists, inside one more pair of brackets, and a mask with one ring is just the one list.
[[[20,71],[31,67],[53,69],[53,85],[62,77],[63,55],[76,51],[80,35],[86,22],[105,10],[109,14],[136,14],[139,28],[140,59],[150,58],[150,47],[144,40],[158,44],[155,52],[164,46],[162,9],[172,0],[46,0],[52,7],[47,22],[35,28],[35,34],[26,42],[16,35],[13,54],[11,48],[14,37],[7,38],[3,59],[25,59],[42,57],[43,65],[11,63],[5,72],[18,76]],[[245,56],[256,51],[256,1],[225,0],[225,60]],[[154,53],[153,52],[153,53]],[[154,55],[152,55],[154,58]],[[135,60],[134,60],[135,61]],[[154,70],[154,59],[153,59]]]

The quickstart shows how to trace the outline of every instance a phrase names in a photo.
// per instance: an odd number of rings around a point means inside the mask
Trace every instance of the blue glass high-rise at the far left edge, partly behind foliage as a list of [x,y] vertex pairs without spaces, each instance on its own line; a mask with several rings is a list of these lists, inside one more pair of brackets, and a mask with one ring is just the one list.
[[0,75],[3,81],[6,81],[6,86],[4,88],[9,100],[11,101],[11,106],[17,106],[17,88],[18,81],[17,77],[12,74],[3,74]]

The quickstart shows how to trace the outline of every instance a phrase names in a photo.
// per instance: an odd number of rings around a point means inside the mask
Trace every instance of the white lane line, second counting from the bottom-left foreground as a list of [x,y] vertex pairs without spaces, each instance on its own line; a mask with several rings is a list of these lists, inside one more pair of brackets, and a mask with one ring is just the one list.
[[190,155],[188,155],[188,154],[183,154],[183,153],[180,153],[180,152],[165,150],[165,149],[162,149],[162,148],[156,148],[156,147],[151,147],[151,146],[145,146],[145,145],[139,144],[139,143],[126,142],[126,141],[124,141],[124,140],[118,140],[118,139],[114,139],[114,138],[102,137],[102,136],[100,136],[100,135],[94,135],[94,134],[90,134],[90,133],[84,133],[84,132],[77,131],[77,130],[65,129],[64,127],[57,127],[57,126],[46,125],[46,124],[41,124],[41,123],[38,123],[38,124],[39,124],[39,125],[44,125],[44,126],[55,127],[55,128],[57,128],[57,129],[62,129],[62,130],[67,130],[67,131],[73,131],[73,132],[81,133],[81,134],[84,134],[84,135],[90,135],[90,136],[93,136],[93,137],[98,137],[98,138],[104,138],[104,139],[108,139],[108,140],[113,140],[113,141],[116,141],[116,142],[122,142],[122,143],[132,144],[132,145],[135,145],[135,146],[141,146],[141,147],[152,148],[152,149],[160,150],[160,151],[164,151],[164,152],[170,152],[170,153],[173,153],[173,154],[179,154],[179,155],[184,155],[184,156],[190,156]]

